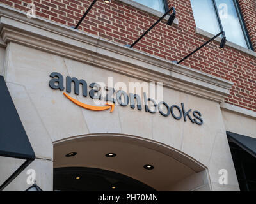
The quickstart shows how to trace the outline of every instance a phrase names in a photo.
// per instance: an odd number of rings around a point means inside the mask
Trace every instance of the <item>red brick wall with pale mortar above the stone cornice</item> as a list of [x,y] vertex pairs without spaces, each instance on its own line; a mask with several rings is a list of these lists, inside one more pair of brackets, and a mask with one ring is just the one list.
[[[0,0],[0,3],[27,11],[26,4],[31,0]],[[36,15],[72,26],[77,24],[92,0],[34,0],[33,3]],[[175,6],[179,25],[170,27],[166,22],[160,22],[134,48],[173,61],[182,59],[208,39],[195,34],[196,25],[189,0],[169,0],[168,4]],[[239,0],[239,4],[256,50],[256,2]],[[104,4],[99,0],[79,29],[125,45],[136,40],[156,20],[157,17],[118,1]],[[182,64],[234,82],[225,101],[256,111],[255,57],[227,46],[222,50],[218,43],[212,42]]]

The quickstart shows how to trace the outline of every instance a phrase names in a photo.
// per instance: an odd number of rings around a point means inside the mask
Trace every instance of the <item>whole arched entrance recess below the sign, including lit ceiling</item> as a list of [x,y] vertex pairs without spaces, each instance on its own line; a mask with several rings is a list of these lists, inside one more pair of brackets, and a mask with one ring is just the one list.
[[190,191],[207,183],[202,164],[146,138],[101,133],[54,143],[54,190]]

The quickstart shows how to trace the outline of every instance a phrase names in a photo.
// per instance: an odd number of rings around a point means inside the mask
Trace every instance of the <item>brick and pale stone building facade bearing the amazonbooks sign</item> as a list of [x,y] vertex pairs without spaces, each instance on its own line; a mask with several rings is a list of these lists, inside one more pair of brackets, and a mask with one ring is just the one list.
[[[4,191],[256,190],[255,1],[99,0],[77,29],[92,1],[0,3],[0,75],[35,152]],[[0,159],[3,183],[20,161]]]

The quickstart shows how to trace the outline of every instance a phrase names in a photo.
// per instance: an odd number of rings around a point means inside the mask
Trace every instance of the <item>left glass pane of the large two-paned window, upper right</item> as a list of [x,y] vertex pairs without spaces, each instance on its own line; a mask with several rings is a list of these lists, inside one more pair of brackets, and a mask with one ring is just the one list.
[[220,25],[212,0],[191,0],[196,27],[212,34],[220,33]]

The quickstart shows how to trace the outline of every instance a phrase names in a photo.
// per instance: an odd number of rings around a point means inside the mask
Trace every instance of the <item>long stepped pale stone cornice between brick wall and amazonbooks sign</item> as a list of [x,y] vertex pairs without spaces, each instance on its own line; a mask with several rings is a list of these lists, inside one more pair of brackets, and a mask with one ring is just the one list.
[[44,18],[29,19],[26,13],[0,5],[3,43],[19,43],[44,52],[109,69],[146,82],[222,102],[233,83],[99,36],[77,31]]

